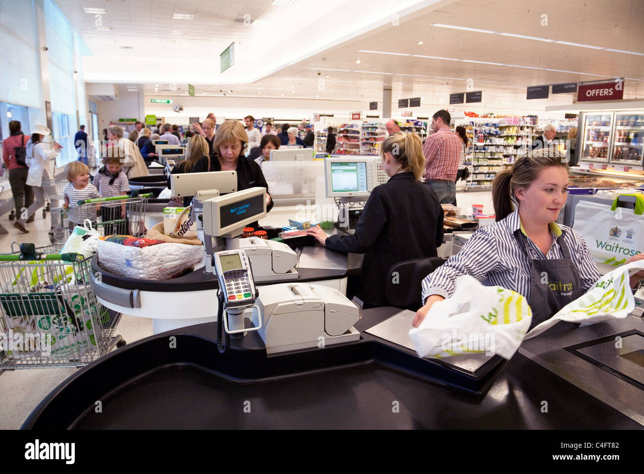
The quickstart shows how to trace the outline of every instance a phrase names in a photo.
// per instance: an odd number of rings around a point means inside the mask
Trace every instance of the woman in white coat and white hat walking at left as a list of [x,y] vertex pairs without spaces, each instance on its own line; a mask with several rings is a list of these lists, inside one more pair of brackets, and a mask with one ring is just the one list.
[[[33,204],[27,209],[27,217],[31,217],[33,213],[43,207],[46,198],[49,199],[52,208],[59,205],[55,186],[53,186],[53,170],[61,145],[54,142],[52,149],[48,143],[43,142],[44,137],[50,133],[49,128],[43,124],[35,124],[31,139],[26,146],[26,163],[29,166],[26,183],[32,186],[34,197]],[[24,214],[20,217],[24,217]],[[22,219],[19,219],[18,222],[24,226],[25,222]]]

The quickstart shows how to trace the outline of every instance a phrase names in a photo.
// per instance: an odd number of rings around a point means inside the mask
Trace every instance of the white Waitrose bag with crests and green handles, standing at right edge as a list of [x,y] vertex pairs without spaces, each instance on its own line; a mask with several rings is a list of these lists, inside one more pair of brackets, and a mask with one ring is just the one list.
[[612,206],[580,201],[574,212],[574,230],[588,244],[597,264],[620,266],[627,259],[644,252],[644,195],[623,194],[635,199],[635,209],[618,208],[619,197]]

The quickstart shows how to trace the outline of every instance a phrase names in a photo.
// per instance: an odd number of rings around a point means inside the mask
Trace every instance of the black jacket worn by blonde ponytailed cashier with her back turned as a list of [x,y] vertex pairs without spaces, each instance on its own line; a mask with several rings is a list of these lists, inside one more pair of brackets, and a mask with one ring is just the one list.
[[[353,235],[332,235],[326,245],[340,252],[365,253],[357,297],[371,306],[386,306],[392,265],[436,257],[442,237],[443,211],[436,194],[415,181],[412,173],[399,173],[374,188]],[[418,302],[420,306],[421,288]]]

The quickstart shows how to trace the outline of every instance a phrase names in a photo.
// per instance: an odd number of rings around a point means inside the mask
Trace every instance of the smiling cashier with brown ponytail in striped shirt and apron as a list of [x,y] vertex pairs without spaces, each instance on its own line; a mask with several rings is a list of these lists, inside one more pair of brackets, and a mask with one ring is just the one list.
[[[600,273],[586,242],[575,230],[554,222],[567,187],[565,155],[547,148],[527,153],[511,170],[498,173],[492,184],[497,222],[477,230],[459,253],[422,281],[424,305],[413,326],[432,304],[451,297],[460,275],[524,295],[533,312],[530,328],[589,291]],[[639,259],[644,255],[628,262]],[[633,275],[631,286],[639,288],[643,277]]]

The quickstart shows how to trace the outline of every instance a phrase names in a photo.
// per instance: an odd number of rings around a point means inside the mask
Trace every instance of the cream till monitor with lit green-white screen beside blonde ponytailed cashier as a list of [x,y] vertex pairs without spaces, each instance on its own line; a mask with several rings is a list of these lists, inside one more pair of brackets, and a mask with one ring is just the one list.
[[327,157],[327,197],[369,197],[377,186],[377,156]]

